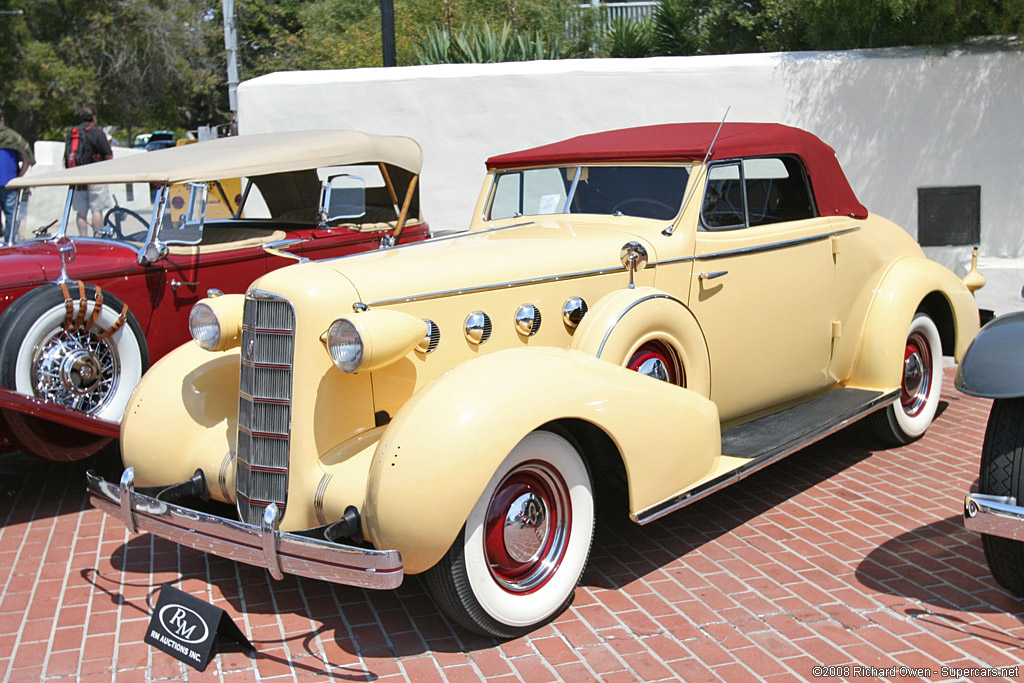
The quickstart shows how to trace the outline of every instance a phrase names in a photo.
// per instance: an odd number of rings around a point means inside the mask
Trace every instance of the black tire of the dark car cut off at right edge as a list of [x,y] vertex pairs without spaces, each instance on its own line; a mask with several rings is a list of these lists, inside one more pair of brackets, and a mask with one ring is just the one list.
[[[981,450],[978,492],[1024,502],[1024,398],[992,402]],[[992,577],[1011,593],[1024,596],[1024,542],[983,533],[981,545]]]

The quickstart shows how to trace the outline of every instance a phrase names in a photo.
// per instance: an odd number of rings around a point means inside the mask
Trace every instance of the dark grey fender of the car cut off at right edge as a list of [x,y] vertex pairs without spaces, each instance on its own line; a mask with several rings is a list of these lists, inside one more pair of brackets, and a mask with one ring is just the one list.
[[1024,396],[1024,311],[981,329],[956,368],[956,388],[972,396]]

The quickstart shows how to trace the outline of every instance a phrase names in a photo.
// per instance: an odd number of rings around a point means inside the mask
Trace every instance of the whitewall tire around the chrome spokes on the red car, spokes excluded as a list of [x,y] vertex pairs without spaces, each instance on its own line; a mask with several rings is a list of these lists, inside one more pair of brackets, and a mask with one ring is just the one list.
[[[73,285],[69,292],[74,301],[74,314],[77,315],[81,309],[78,290]],[[85,319],[88,321],[95,306],[95,288],[86,285],[85,296],[88,299]],[[103,303],[95,326],[108,330],[117,322],[123,304],[108,292],[103,292],[102,296]],[[57,287],[41,287],[25,295],[8,312],[9,316],[3,316],[6,334],[0,341],[2,344],[0,383],[18,393],[34,396],[36,392],[32,383],[33,356],[40,342],[65,323],[67,308],[63,293]],[[110,337],[109,341],[118,353],[119,377],[115,391],[106,404],[93,415],[104,420],[121,422],[135,385],[148,368],[150,356],[141,327],[131,311],[126,313],[124,325]]]

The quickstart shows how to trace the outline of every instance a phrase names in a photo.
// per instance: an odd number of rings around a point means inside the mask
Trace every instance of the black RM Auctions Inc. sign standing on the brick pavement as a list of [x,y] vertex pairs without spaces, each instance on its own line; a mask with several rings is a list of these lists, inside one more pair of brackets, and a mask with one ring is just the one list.
[[253,649],[220,607],[214,607],[172,586],[160,589],[145,642],[194,669],[204,671],[210,663],[210,653],[218,634],[249,650]]

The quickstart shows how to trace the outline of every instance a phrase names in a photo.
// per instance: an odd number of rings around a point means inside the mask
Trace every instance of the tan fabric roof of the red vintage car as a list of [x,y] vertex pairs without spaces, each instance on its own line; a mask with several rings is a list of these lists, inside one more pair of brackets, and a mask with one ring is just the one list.
[[384,162],[420,172],[416,140],[354,130],[304,130],[222,137],[88,166],[29,174],[8,187],[110,182],[176,183]]

